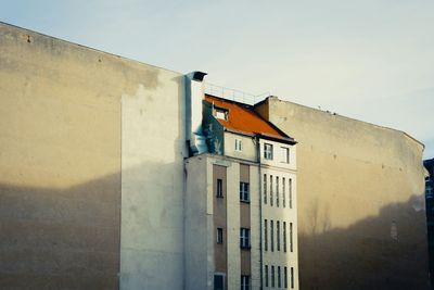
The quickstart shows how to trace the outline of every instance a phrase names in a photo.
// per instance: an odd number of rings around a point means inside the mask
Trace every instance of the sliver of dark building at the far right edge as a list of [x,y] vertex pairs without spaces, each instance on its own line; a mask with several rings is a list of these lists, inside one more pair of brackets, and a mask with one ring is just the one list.
[[426,227],[430,280],[434,285],[434,159],[424,160],[423,166],[429,173],[425,177]]

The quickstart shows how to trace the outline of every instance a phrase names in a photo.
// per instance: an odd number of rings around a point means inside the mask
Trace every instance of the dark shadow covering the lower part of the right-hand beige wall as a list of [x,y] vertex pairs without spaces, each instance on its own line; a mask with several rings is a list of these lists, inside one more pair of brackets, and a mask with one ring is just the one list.
[[332,229],[328,207],[314,200],[308,230],[298,234],[301,289],[430,289],[420,200],[383,206],[344,229]]

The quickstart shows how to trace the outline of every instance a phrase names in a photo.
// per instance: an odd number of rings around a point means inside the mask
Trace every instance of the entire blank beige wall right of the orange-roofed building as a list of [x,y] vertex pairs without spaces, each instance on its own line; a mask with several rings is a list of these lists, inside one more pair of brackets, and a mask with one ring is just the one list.
[[258,112],[298,141],[301,289],[427,289],[423,146],[277,98]]

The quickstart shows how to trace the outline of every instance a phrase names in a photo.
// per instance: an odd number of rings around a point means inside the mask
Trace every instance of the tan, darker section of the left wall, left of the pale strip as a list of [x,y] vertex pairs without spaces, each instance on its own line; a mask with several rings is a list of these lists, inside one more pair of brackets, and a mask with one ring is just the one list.
[[0,23],[0,288],[116,289],[137,64]]

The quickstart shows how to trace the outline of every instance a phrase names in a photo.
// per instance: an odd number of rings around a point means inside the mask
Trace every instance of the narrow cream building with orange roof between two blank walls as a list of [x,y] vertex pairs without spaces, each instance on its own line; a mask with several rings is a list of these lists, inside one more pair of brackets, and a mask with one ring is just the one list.
[[298,289],[296,146],[253,106],[206,96],[186,161],[187,289]]

